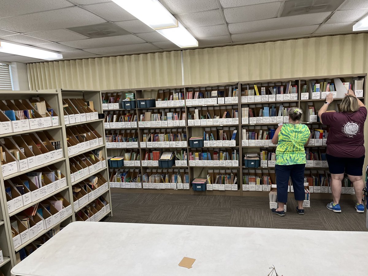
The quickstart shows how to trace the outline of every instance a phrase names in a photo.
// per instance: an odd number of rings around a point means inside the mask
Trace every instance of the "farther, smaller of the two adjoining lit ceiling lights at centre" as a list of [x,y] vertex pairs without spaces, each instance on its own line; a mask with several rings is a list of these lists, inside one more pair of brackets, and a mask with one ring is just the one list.
[[197,39],[195,39],[180,22],[178,22],[178,26],[175,28],[156,30],[156,32],[160,33],[180,48],[198,47]]

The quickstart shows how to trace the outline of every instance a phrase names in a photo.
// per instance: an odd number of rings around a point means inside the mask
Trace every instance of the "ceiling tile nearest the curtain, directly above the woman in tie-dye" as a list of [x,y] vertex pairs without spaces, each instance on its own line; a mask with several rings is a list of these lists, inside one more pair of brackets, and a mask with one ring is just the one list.
[[274,40],[274,39],[284,39],[294,36],[307,35],[314,32],[318,28],[318,25],[305,26],[298,28],[289,28],[273,31],[263,31],[263,32],[253,32],[253,33],[240,33],[236,35],[231,35],[231,39],[234,42],[254,42],[263,40]]

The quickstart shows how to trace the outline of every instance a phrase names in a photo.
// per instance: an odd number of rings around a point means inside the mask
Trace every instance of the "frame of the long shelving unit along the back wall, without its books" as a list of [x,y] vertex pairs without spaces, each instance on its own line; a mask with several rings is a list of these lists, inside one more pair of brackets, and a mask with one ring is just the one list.
[[[138,138],[141,139],[142,137],[142,133],[144,130],[163,130],[163,129],[173,129],[173,128],[183,128],[186,133],[187,133],[187,138],[189,139],[192,136],[201,136],[203,135],[203,130],[204,128],[220,128],[220,127],[229,127],[229,128],[236,128],[238,130],[237,133],[237,138],[236,138],[236,146],[235,147],[230,147],[233,149],[237,149],[239,151],[239,156],[243,156],[243,154],[247,151],[258,151],[260,149],[271,149],[271,150],[275,150],[276,146],[247,146],[247,147],[243,147],[241,144],[241,130],[242,128],[246,128],[246,127],[253,127],[253,126],[273,126],[275,127],[277,125],[277,123],[261,123],[261,124],[242,124],[241,122],[241,118],[242,118],[242,114],[241,114],[241,107],[246,107],[249,105],[271,105],[271,104],[296,104],[297,106],[302,107],[302,109],[304,109],[305,111],[305,107],[307,105],[308,102],[312,102],[315,106],[319,106],[323,104],[323,99],[308,99],[308,100],[301,100],[301,88],[302,85],[309,81],[309,80],[318,80],[318,79],[333,79],[333,78],[346,78],[346,79],[350,79],[351,77],[361,77],[364,78],[364,95],[363,97],[360,97],[360,99],[362,99],[364,101],[364,97],[365,97],[365,86],[366,86],[366,76],[367,74],[350,74],[350,75],[332,75],[332,76],[317,76],[317,77],[302,77],[302,78],[286,78],[286,79],[266,79],[266,80],[251,80],[251,81],[241,81],[241,82],[226,82],[226,83],[219,83],[219,84],[199,84],[199,85],[187,85],[187,86],[171,86],[171,87],[154,87],[154,88],[138,88],[138,89],[116,89],[116,90],[106,90],[106,91],[101,91],[102,95],[111,95],[119,93],[120,95],[123,95],[122,97],[124,97],[124,93],[126,92],[133,92],[135,93],[136,99],[137,98],[156,98],[156,93],[158,90],[164,90],[164,89],[184,89],[185,92],[185,98],[188,92],[189,88],[195,88],[195,87],[210,87],[210,86],[238,86],[239,89],[239,97],[238,97],[238,103],[226,103],[226,104],[217,104],[217,105],[195,105],[195,106],[188,106],[187,103],[185,102],[185,106],[170,106],[170,107],[152,107],[152,108],[145,108],[145,109],[139,109],[138,105],[135,109],[122,109],[121,107],[116,108],[116,109],[112,109],[112,107],[110,109],[108,109],[108,107],[106,107],[107,105],[105,105],[105,109],[103,110],[105,113],[110,113],[110,112],[121,112],[121,113],[129,113],[129,112],[135,112],[135,114],[138,117],[138,121],[139,121],[139,115],[142,114],[142,112],[144,112],[145,110],[159,110],[162,111],[164,109],[181,109],[181,110],[185,110],[185,112],[188,114],[189,109],[193,109],[193,108],[202,108],[202,110],[206,109],[206,107],[216,107],[216,106],[236,106],[238,109],[238,114],[239,114],[239,123],[236,125],[211,125],[211,126],[206,126],[206,125],[188,125],[188,120],[186,121],[185,126],[178,126],[178,127],[139,127],[139,125],[137,124],[137,127],[135,128],[106,128],[106,133],[109,131],[113,131],[113,130],[137,130],[138,131]],[[293,81],[295,83],[295,85],[297,85],[297,99],[296,100],[281,100],[281,101],[266,101],[266,102],[252,102],[252,103],[242,103],[241,102],[241,91],[245,86],[248,85],[254,85],[254,84],[258,84],[258,87],[261,87],[262,84],[265,83],[279,83],[279,82],[289,82],[289,81]],[[332,80],[333,82],[333,80]],[[263,85],[264,86],[264,85]],[[266,84],[267,86],[267,84]],[[268,91],[266,91],[268,92]],[[335,103],[335,107],[334,109],[337,110],[337,103],[340,102],[342,99],[335,99],[334,103]],[[333,106],[333,105],[332,105]],[[316,111],[318,109],[316,108]],[[304,117],[302,118],[304,124],[307,124],[309,127],[312,127],[312,125],[321,125],[321,123],[319,122],[308,122],[304,120]],[[325,148],[325,146],[315,146],[315,145],[311,145],[311,146],[306,146],[306,148]],[[180,147],[179,147],[180,148]],[[213,147],[213,148],[223,148],[223,147]],[[109,152],[110,156],[119,156],[123,153],[124,150],[139,150],[140,154],[141,154],[141,158],[143,158],[143,155],[145,153],[146,150],[149,149],[163,149],[163,148],[141,148],[140,147],[140,141],[138,141],[138,148],[109,148],[107,149],[107,151]],[[170,150],[174,150],[175,148],[167,148],[166,150],[170,151]],[[209,148],[203,148],[203,149],[209,149]],[[188,144],[187,146],[187,152],[189,155],[191,148]],[[189,157],[189,156],[188,156]],[[229,170],[237,170],[238,171],[238,190],[237,191],[193,191],[192,188],[190,188],[190,190],[171,190],[171,189],[143,189],[143,188],[134,188],[134,189],[129,189],[129,188],[112,188],[113,192],[126,192],[126,193],[131,193],[131,192],[138,192],[138,193],[169,193],[169,194],[218,194],[218,195],[242,195],[242,196],[249,196],[252,193],[254,195],[263,195],[263,196],[267,196],[268,192],[259,192],[259,191],[243,191],[242,189],[242,182],[243,182],[243,174],[244,174],[244,170],[249,170],[252,168],[246,168],[244,167],[243,164],[243,160],[240,157],[241,160],[239,160],[239,166],[237,167],[226,167],[225,169],[229,169]],[[118,169],[136,169],[137,167],[129,167],[129,166],[123,166],[121,168]],[[147,167],[141,166],[138,168],[141,170],[142,174],[144,174],[145,170]],[[160,169],[159,167],[155,167],[157,169]],[[190,176],[190,181],[192,181],[195,177],[198,177],[200,174],[199,170],[205,170],[206,168],[208,169],[214,169],[214,170],[218,170],[220,169],[220,167],[209,167],[209,166],[189,166],[189,162],[187,164],[187,166],[180,166],[180,167],[176,167],[173,166],[172,169],[186,169],[186,171],[189,171],[189,176]],[[117,168],[111,168],[111,170],[114,169],[115,171],[118,170]],[[273,167],[258,167],[256,168],[256,170],[272,170],[274,169]],[[165,169],[163,169],[165,170]],[[326,168],[323,167],[306,167],[306,170],[326,170]],[[317,194],[315,194],[317,195]],[[314,197],[316,197],[314,195]],[[321,195],[317,195],[317,197],[319,196],[323,196]],[[349,195],[343,195],[344,197],[349,197]]]

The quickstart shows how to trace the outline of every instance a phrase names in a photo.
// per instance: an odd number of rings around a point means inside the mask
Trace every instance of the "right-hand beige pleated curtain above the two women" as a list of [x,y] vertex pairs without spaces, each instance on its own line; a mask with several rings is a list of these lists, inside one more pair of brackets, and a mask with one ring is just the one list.
[[183,51],[186,85],[368,72],[368,34]]

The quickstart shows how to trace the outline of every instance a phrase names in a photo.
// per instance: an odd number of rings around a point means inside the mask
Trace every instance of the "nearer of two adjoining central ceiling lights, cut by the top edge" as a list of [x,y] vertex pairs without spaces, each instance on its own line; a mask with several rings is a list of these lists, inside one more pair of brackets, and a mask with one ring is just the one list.
[[152,29],[172,28],[178,21],[158,0],[112,0]]

